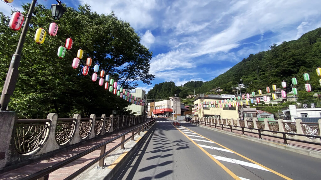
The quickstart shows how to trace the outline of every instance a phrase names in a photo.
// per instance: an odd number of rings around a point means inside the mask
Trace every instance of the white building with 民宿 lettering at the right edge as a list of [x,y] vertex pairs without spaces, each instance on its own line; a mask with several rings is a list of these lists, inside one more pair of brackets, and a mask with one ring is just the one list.
[[[303,122],[317,122],[321,119],[321,107],[316,107],[316,103],[289,105],[289,107],[282,109],[282,119],[302,119]],[[313,120],[313,121],[312,121]]]

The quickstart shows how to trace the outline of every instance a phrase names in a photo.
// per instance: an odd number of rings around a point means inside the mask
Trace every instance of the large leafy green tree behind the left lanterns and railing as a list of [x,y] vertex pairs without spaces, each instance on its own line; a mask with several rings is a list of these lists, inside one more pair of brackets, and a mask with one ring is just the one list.
[[[22,8],[23,14],[27,14],[29,4]],[[118,84],[132,89],[137,86],[137,80],[151,84],[154,79],[149,73],[152,53],[140,43],[140,37],[130,24],[118,20],[113,12],[97,14],[91,12],[88,5],[80,5],[78,11],[68,7],[67,11],[56,20],[59,25],[57,35],[48,35],[44,44],[38,45],[33,40],[36,29],[47,30],[52,19],[50,10],[43,5],[36,6],[9,109],[15,110],[19,118],[45,118],[49,112],[56,112],[59,117],[70,117],[73,113],[111,114],[112,110],[129,113],[127,101],[109,93],[98,85],[98,81],[91,81],[93,65],[99,64],[100,70],[105,70],[105,74]],[[1,88],[21,34],[21,31],[12,31],[8,22],[9,17],[0,12]],[[72,37],[73,47],[63,59],[59,59],[57,49],[68,37]],[[79,48],[84,51],[84,57],[74,70],[71,64]],[[87,57],[93,59],[93,65],[89,74],[83,76],[82,68]]]

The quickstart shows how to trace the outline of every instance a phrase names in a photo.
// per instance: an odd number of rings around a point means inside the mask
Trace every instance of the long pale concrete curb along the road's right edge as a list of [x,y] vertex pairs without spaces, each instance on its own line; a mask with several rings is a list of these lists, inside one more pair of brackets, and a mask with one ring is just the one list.
[[307,156],[311,156],[311,157],[314,157],[314,158],[321,159],[321,151],[305,149],[305,148],[292,146],[292,145],[285,145],[285,144],[282,144],[282,143],[273,142],[273,141],[269,141],[269,140],[266,140],[266,139],[259,139],[259,138],[255,138],[255,137],[250,137],[250,136],[247,136],[247,135],[239,135],[239,134],[231,133],[231,132],[228,132],[228,131],[222,131],[222,130],[215,129],[215,128],[208,127],[208,126],[204,126],[204,125],[199,125],[199,124],[194,124],[194,123],[191,123],[191,124],[193,124],[195,126],[203,127],[203,128],[206,128],[206,129],[210,129],[210,130],[213,130],[213,131],[221,132],[221,133],[224,133],[224,134],[232,135],[234,137],[247,139],[247,140],[250,140],[250,141],[257,142],[257,143],[273,146],[273,147],[276,147],[276,148],[279,148],[279,149],[284,149],[284,150],[287,150],[287,151],[292,151],[292,152],[296,152],[296,153],[299,153],[299,154],[304,154],[304,155],[307,155]]

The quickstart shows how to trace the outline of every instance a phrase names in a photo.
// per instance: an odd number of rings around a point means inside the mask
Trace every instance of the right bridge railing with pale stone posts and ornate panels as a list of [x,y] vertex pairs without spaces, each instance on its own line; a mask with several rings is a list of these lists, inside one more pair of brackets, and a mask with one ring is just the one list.
[[215,118],[199,118],[193,117],[192,123],[204,126],[220,128],[222,130],[241,131],[256,134],[262,139],[262,136],[269,136],[283,139],[284,144],[287,141],[296,141],[302,143],[321,145],[321,119],[317,123],[302,122],[301,119],[296,119],[295,122],[284,121],[258,121],[257,118],[240,119],[215,119]]

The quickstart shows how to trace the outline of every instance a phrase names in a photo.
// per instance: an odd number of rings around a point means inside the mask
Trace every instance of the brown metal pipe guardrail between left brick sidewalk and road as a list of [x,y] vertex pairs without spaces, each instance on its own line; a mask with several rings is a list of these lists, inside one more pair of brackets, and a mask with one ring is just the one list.
[[[82,158],[83,156],[91,153],[92,151],[95,151],[97,149],[100,149],[100,156],[95,158],[94,160],[92,160],[91,162],[89,162],[87,165],[85,165],[84,167],[80,168],[79,170],[77,170],[76,172],[74,172],[73,174],[71,174],[70,176],[66,177],[64,180],[70,180],[70,179],[73,179],[74,177],[78,176],[80,173],[82,173],[84,170],[86,170],[87,168],[91,167],[92,165],[94,165],[96,162],[99,161],[99,166],[102,167],[104,165],[104,160],[105,160],[105,157],[111,153],[112,151],[114,151],[115,149],[117,149],[119,146],[121,149],[124,149],[124,144],[128,141],[128,140],[134,140],[134,136],[136,134],[140,135],[140,132],[144,132],[145,129],[147,129],[148,127],[152,127],[155,123],[155,119],[151,120],[151,121],[148,121],[146,123],[144,123],[143,125],[139,126],[139,127],[135,127],[121,135],[118,135],[104,143],[100,143],[94,147],[92,147],[91,149],[88,149],[86,151],[83,151],[71,158],[68,158],[66,160],[63,160],[61,162],[58,162],[48,168],[45,168],[45,169],[42,169],[40,170],[39,172],[37,173],[34,173],[34,174],[31,174],[25,178],[22,178],[22,180],[37,180],[37,179],[40,179],[42,178],[43,180],[48,180],[49,178],[49,174],[56,171],[57,169],[59,168],[62,168],[64,167],[65,165],[79,159],[79,158]],[[136,130],[136,132],[135,132]],[[125,139],[125,135],[131,133],[131,136],[126,138]],[[108,150],[106,152],[106,145],[115,141],[116,139],[118,138],[122,138],[121,142],[118,143],[116,146],[114,146],[113,148],[111,148],[110,150]]]

